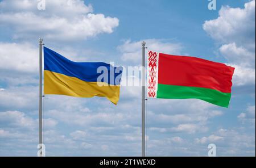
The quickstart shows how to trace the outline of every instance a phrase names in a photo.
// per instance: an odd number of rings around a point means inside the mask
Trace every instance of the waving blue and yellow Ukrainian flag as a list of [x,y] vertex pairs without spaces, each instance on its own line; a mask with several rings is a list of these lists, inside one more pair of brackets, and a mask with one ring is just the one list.
[[117,104],[121,75],[122,67],[115,68],[104,62],[73,62],[44,47],[44,94],[80,98],[105,96]]

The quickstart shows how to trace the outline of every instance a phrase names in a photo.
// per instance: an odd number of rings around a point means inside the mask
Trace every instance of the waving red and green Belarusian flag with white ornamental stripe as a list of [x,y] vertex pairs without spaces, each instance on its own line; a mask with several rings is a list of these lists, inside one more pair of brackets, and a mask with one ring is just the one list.
[[234,68],[196,57],[148,52],[147,96],[201,99],[228,107]]

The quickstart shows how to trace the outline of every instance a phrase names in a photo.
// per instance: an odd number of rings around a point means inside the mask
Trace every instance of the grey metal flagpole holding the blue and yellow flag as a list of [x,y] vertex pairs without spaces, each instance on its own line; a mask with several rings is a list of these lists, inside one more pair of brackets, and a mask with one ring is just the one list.
[[43,87],[42,87],[42,70],[43,70],[43,39],[39,38],[39,146],[40,157],[43,156],[42,144],[43,144]]

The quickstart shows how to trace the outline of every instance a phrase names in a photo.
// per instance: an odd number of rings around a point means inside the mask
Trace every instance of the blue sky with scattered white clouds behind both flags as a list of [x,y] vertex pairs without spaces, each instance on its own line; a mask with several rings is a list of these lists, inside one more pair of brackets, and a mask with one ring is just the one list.
[[[144,40],[233,66],[229,108],[147,100],[146,156],[255,156],[255,0],[39,2],[0,0],[0,156],[37,156],[39,37],[72,61],[140,66]],[[141,156],[141,87],[121,87],[117,106],[46,95],[43,117],[46,156]]]

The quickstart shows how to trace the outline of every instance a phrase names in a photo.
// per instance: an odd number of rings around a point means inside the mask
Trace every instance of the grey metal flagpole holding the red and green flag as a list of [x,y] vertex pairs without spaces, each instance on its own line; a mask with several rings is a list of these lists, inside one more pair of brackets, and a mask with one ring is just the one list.
[[146,73],[145,73],[145,47],[146,42],[142,41],[142,157],[146,156],[146,149],[145,149],[145,141],[146,141],[146,137],[145,137],[145,77],[146,77]]

